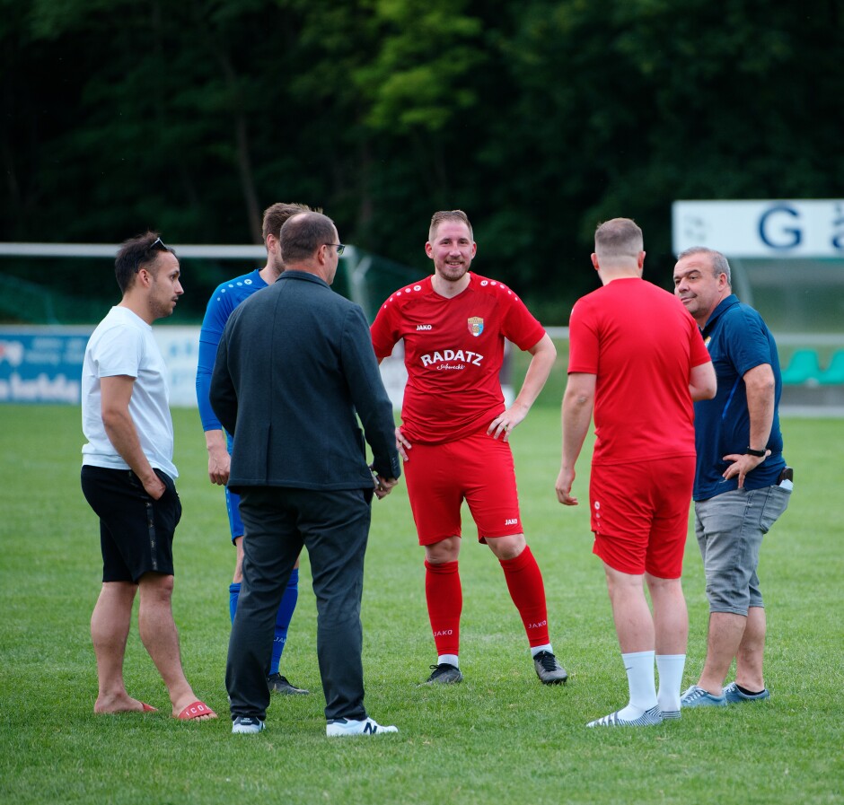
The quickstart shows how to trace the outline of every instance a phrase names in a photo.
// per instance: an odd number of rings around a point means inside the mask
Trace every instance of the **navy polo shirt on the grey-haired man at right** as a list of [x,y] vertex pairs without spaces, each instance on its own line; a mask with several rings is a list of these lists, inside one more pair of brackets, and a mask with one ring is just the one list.
[[[724,456],[743,453],[750,446],[767,448],[770,455],[744,478],[745,489],[760,489],[777,483],[786,461],[782,457],[779,430],[779,398],[782,377],[777,345],[762,317],[732,293],[722,300],[703,328],[703,340],[715,366],[718,390],[714,399],[695,403],[695,449],[698,453],[695,486],[696,501],[738,488],[738,477],[725,480],[730,462]],[[754,366],[769,363],[776,383],[774,420],[768,444],[750,444],[751,423],[747,411],[747,389],[743,375]]]

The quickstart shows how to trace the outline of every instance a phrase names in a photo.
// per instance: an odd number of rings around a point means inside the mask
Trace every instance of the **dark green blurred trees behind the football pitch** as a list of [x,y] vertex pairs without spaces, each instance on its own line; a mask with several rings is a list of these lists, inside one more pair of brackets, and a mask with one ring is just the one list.
[[0,240],[261,242],[299,201],[426,274],[459,207],[479,273],[565,324],[603,220],[668,286],[673,200],[840,196],[842,25],[841,0],[0,0]]

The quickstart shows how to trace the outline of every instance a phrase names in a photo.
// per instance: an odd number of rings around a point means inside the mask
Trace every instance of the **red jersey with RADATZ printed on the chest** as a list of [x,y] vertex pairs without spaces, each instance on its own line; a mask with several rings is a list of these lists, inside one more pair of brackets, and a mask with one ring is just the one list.
[[530,349],[545,335],[505,284],[470,272],[451,299],[427,276],[383,303],[372,326],[381,361],[404,339],[408,383],[401,429],[409,442],[453,442],[488,425],[504,410],[498,372],[504,339]]

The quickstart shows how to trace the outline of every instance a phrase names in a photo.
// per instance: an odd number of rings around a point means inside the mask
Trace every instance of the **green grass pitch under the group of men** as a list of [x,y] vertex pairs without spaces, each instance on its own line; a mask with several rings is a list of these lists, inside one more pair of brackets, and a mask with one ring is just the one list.
[[[232,736],[223,686],[233,548],[207,483],[195,411],[174,412],[184,515],[174,610],[191,684],[221,718],[180,723],[133,626],[127,687],[159,713],[95,716],[89,618],[100,589],[97,527],[79,489],[73,407],[0,407],[0,802],[15,803],[831,803],[844,801],[842,420],[786,420],[791,508],[766,539],[767,704],[684,713],[642,730],[587,730],[626,704],[624,670],[588,511],[564,509],[556,407],[514,433],[528,539],[541,565],[567,687],[543,687],[503,574],[466,524],[465,682],[418,687],[435,661],[403,484],[374,505],[364,594],[366,704],[397,736],[326,739],[303,559],[283,670],[312,696],[275,698],[262,735]],[[576,488],[586,497],[588,457]],[[693,540],[686,684],[707,608]]]

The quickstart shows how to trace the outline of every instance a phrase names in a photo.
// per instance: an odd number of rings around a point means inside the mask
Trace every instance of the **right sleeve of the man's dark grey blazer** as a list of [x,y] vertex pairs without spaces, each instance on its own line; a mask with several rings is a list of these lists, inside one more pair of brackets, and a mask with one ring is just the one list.
[[382,477],[401,475],[392,403],[384,389],[364,311],[352,308],[343,329],[341,357],[352,403],[373,451],[373,468]]

